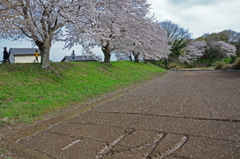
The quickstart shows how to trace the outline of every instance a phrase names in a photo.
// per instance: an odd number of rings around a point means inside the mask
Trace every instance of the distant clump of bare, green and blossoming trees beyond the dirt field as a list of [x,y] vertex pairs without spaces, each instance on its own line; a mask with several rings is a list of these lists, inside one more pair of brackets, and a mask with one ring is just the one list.
[[196,39],[191,38],[188,30],[171,21],[159,23],[166,31],[169,42],[170,54],[163,60],[165,65],[169,62],[190,63],[201,59],[232,58],[240,56],[240,33],[232,30],[224,30],[219,33],[204,34]]

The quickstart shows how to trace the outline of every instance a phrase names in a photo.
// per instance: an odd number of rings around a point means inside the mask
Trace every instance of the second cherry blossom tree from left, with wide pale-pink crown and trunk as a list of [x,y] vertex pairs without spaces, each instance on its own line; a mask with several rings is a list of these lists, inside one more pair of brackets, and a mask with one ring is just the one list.
[[[68,27],[66,47],[87,41],[89,46],[99,46],[104,53],[104,62],[110,65],[113,53],[129,53],[130,45],[125,43],[130,37],[133,23],[139,17],[145,17],[149,11],[146,0],[112,0],[99,1],[98,16],[84,27]],[[95,44],[95,45],[94,45]]]

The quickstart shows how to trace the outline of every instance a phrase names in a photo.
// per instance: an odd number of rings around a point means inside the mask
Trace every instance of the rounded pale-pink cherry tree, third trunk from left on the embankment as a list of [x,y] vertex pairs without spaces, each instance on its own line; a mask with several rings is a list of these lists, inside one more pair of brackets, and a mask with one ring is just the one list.
[[[115,53],[125,53],[126,56],[134,56],[135,62],[139,62],[139,57],[145,60],[160,60],[166,58],[170,53],[169,38],[165,31],[161,29],[154,18],[135,17],[125,26],[125,34],[119,39],[119,44]],[[131,58],[130,58],[131,60]]]

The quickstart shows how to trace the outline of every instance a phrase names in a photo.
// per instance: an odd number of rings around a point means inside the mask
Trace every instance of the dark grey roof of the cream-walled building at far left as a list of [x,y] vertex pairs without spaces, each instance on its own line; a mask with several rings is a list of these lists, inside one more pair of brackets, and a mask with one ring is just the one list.
[[9,52],[10,54],[13,54],[15,56],[21,56],[21,55],[34,55],[36,50],[40,53],[38,48],[10,48]]

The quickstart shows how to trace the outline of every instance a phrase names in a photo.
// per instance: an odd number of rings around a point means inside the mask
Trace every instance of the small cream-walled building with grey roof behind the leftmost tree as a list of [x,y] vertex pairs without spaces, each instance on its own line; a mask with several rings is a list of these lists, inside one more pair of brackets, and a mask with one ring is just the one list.
[[[38,51],[37,48],[10,48],[10,62],[11,63],[33,63],[36,59],[34,53]],[[41,62],[41,55],[38,56],[38,62]]]

